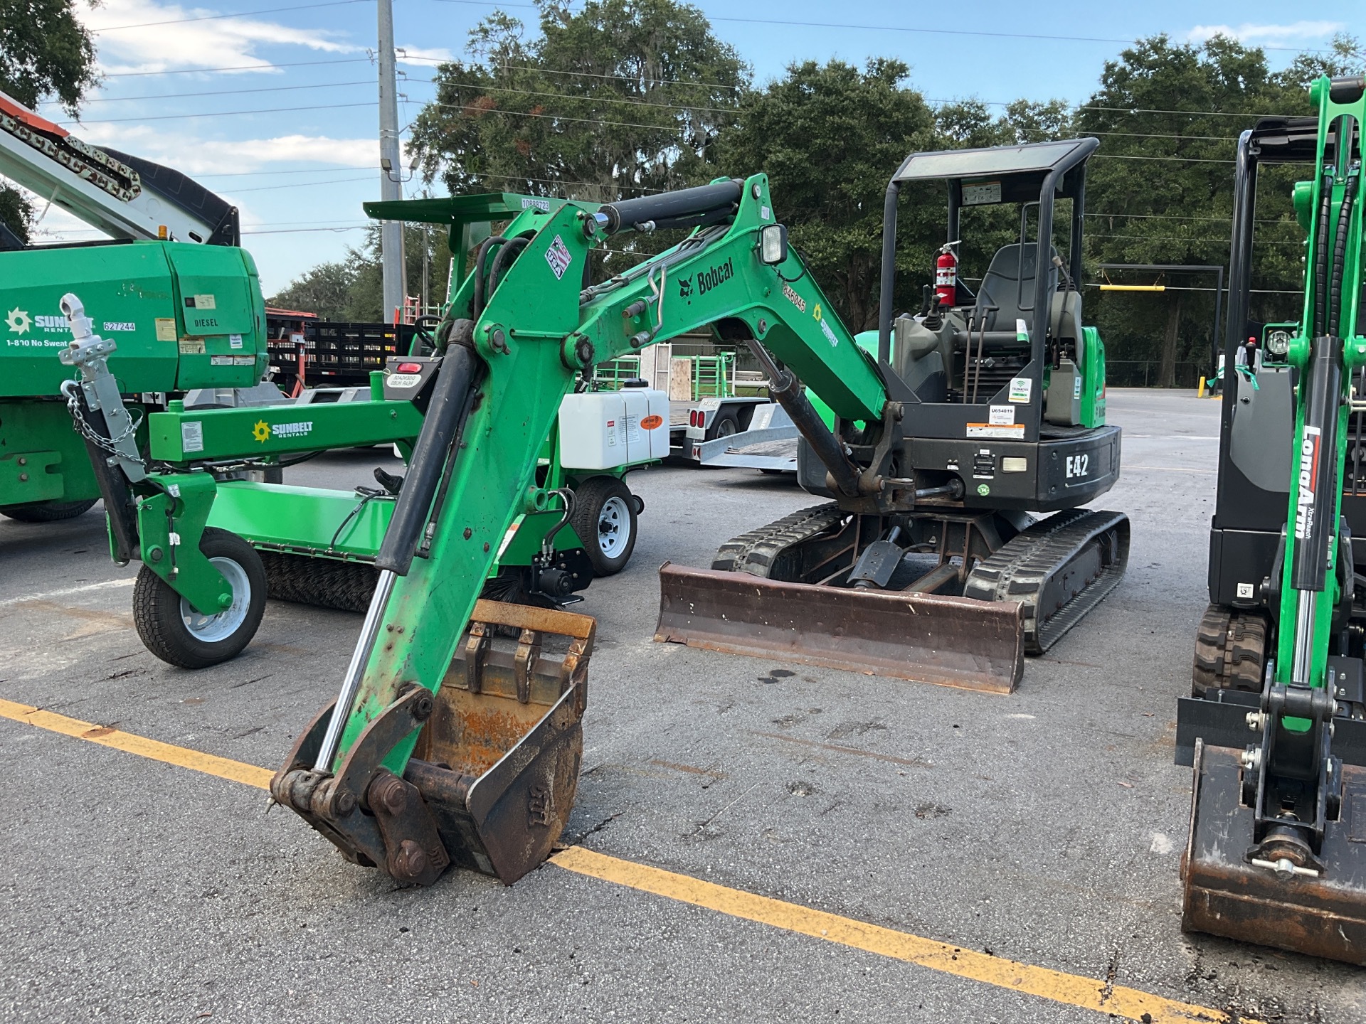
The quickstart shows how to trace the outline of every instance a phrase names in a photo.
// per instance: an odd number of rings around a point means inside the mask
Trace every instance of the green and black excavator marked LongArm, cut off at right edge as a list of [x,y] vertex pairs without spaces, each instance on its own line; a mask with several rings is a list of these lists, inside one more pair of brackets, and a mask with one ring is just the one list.
[[1315,165],[1294,193],[1305,303],[1225,389],[1213,603],[1176,755],[1194,767],[1182,926],[1354,964],[1366,964],[1366,550],[1352,543],[1366,528],[1363,96],[1359,76],[1322,78],[1317,119],[1264,119],[1239,143],[1228,365],[1246,339],[1258,162]]

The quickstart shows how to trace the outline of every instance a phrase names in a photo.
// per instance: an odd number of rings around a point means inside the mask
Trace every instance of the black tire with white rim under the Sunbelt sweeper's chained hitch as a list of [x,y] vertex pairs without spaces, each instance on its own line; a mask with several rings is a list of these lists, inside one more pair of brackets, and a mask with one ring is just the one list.
[[[208,558],[223,560],[219,568],[229,582],[232,576],[246,580],[246,605],[239,605],[234,587],[232,608],[220,613],[227,618],[214,616],[191,632],[186,613],[193,616],[193,609],[157,573],[143,565],[133,586],[133,621],[138,636],[161,661],[182,669],[204,669],[240,654],[251,643],[265,613],[265,568],[251,545],[234,532],[210,526],[199,539],[199,550]],[[219,620],[217,628],[214,620]]]

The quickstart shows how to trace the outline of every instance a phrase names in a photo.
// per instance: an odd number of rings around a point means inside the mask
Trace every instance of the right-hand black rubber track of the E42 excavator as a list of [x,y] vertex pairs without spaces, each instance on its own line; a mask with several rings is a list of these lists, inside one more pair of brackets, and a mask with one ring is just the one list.
[[[1086,590],[1046,623],[1040,624],[1038,595],[1048,580],[1094,537],[1119,527],[1119,554]],[[1034,523],[1012,537],[968,573],[963,597],[979,601],[1019,601],[1024,613],[1024,651],[1042,654],[1078,620],[1096,608],[1124,575],[1128,563],[1128,517],[1120,512],[1072,508]]]

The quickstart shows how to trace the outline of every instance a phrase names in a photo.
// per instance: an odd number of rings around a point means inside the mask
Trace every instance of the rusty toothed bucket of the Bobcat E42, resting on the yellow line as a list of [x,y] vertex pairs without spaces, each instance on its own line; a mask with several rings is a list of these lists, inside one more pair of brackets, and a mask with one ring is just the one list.
[[[418,689],[395,702],[417,696],[422,706],[413,715],[423,722],[422,733],[402,781],[369,763],[374,744],[362,733],[335,780],[299,792],[301,784],[291,780],[317,756],[329,705],[299,739],[270,792],[354,863],[382,866],[393,878],[419,883],[456,864],[511,885],[549,856],[574,808],[594,631],[590,616],[479,601],[441,688],[430,699]],[[372,728],[391,718],[399,730],[413,724],[381,715]],[[344,804],[351,808],[347,818],[370,821],[348,821],[343,831],[331,827],[322,807],[335,808],[335,792],[348,786],[358,796]],[[418,803],[430,815],[421,814]],[[404,826],[407,834],[421,834],[411,827],[415,819],[429,821],[434,834],[426,826],[421,842],[387,841],[404,834]]]

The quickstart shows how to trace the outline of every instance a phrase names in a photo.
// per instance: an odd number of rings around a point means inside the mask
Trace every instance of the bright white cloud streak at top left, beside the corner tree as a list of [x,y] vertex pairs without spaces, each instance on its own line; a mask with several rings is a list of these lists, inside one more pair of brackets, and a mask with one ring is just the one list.
[[[180,22],[219,14],[199,7],[160,4],[156,0],[105,0],[100,7],[76,7],[78,16],[93,33],[102,71],[172,71],[189,67],[246,67],[269,70],[270,61],[257,56],[262,45],[303,46],[325,53],[359,53],[362,46],[346,42],[346,33],[331,29],[292,29],[251,18]],[[172,22],[171,25],[146,25]],[[117,29],[145,25],[139,29]]]

